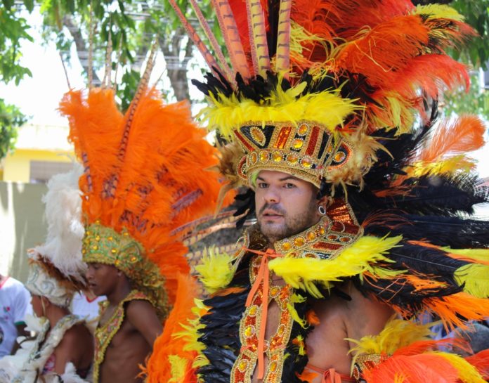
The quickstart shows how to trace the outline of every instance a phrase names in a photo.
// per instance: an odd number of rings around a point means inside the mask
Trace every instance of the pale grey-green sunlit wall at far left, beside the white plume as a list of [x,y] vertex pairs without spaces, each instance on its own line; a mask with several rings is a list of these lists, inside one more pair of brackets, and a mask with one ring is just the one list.
[[46,238],[46,185],[0,181],[0,273],[27,278],[27,249]]

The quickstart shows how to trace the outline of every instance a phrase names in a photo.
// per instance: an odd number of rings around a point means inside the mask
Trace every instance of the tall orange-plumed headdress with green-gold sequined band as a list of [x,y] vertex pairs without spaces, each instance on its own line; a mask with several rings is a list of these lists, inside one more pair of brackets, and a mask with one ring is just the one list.
[[125,114],[110,88],[70,91],[60,110],[85,169],[84,261],[119,268],[163,318],[178,273],[189,271],[178,228],[214,212],[221,185],[205,170],[216,164],[216,150],[188,103],[164,105],[146,86],[153,57]]

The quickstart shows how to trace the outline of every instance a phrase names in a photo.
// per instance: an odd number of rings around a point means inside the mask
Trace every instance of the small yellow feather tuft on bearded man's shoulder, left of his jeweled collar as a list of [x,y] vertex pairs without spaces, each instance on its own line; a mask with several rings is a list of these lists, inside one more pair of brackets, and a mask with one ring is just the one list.
[[200,281],[210,293],[216,292],[229,285],[233,279],[235,268],[233,267],[233,256],[216,252],[215,247],[204,250],[201,264],[195,266],[200,274]]

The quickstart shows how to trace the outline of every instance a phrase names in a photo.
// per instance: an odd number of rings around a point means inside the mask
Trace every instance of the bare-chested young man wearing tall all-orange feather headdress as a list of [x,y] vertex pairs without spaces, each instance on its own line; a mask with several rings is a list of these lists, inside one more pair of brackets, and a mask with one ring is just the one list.
[[147,86],[155,52],[125,115],[110,87],[70,91],[60,110],[83,162],[83,258],[105,295],[95,331],[93,382],[141,382],[141,365],[178,292],[192,288],[181,242],[211,214],[220,189],[216,150],[187,103],[164,105]]

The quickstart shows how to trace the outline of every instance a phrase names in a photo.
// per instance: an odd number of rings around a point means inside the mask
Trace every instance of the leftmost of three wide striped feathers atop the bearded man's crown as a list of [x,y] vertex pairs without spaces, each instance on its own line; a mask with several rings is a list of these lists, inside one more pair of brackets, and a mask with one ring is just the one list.
[[[173,0],[174,1],[174,0]],[[229,57],[233,70],[239,72],[244,79],[252,77],[252,72],[248,67],[247,58],[244,54],[243,45],[241,44],[240,34],[237,30],[233,11],[228,0],[212,0],[216,11],[217,20],[223,32],[224,41],[228,47]]]

